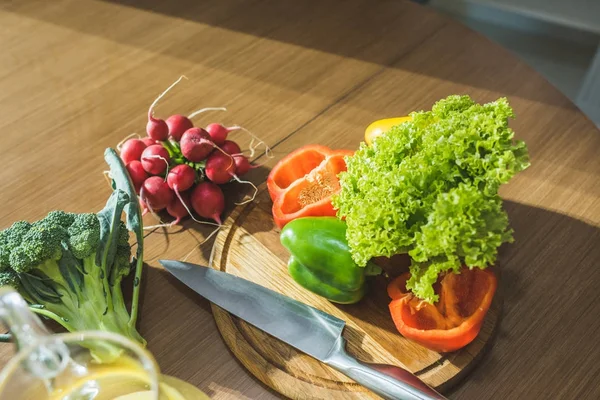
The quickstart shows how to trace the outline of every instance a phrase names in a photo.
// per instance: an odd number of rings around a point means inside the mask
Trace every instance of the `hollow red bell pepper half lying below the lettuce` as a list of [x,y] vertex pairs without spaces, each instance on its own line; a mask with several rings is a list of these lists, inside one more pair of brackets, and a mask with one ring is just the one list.
[[403,274],[388,285],[390,313],[402,336],[439,352],[458,350],[477,337],[498,285],[489,268],[445,274],[434,285],[439,295],[435,304],[406,290],[409,277]]

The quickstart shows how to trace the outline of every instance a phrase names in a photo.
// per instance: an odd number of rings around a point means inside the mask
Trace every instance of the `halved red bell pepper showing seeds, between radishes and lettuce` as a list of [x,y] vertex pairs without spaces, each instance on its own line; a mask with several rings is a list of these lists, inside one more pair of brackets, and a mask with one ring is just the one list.
[[273,219],[279,228],[300,217],[335,216],[331,196],[340,191],[337,175],[351,150],[306,145],[285,156],[267,178]]

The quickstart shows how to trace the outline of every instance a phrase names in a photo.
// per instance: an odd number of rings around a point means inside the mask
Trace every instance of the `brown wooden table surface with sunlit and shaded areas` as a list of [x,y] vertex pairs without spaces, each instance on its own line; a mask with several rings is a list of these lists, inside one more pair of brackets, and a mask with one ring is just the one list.
[[[450,94],[507,96],[532,166],[501,190],[516,239],[499,262],[503,318],[449,395],[600,398],[600,132],[508,51],[402,0],[5,0],[0,48],[0,227],[99,210],[104,149],[143,133],[147,107],[182,74],[157,114],[225,106],[196,122],[252,130],[274,150],[265,167],[306,143],[356,148],[373,120]],[[163,372],[215,399],[278,398],[224,346],[209,304],[158,266],[206,262],[206,232],[147,237],[140,330]],[[0,345],[2,364],[11,351]]]

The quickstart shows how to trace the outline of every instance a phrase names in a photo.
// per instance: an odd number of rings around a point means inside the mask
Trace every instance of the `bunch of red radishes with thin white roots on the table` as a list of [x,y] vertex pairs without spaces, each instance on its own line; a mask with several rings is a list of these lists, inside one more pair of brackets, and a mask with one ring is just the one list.
[[154,106],[175,84],[150,106],[148,137],[125,141],[119,146],[121,158],[144,213],[166,209],[175,218],[171,224],[177,224],[187,216],[194,218],[193,210],[221,225],[225,197],[219,185],[240,182],[239,177],[253,167],[240,147],[227,140],[230,132],[241,128],[218,123],[194,127],[190,118],[180,114],[155,118]]

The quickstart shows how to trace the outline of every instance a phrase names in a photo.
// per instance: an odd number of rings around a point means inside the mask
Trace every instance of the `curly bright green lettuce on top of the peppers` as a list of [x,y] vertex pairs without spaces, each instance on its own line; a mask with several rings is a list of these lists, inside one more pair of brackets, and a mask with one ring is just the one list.
[[506,98],[477,104],[454,95],[411,117],[346,158],[333,204],[358,265],[408,253],[407,288],[433,303],[440,273],[493,265],[512,240],[498,189],[529,156],[508,127]]

